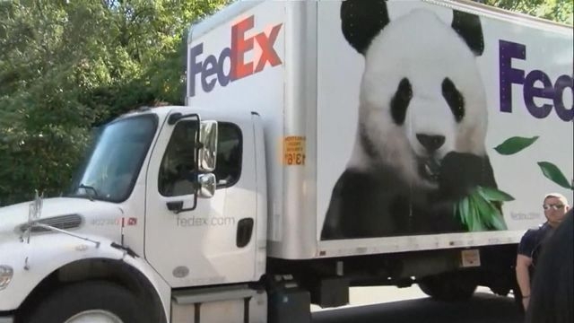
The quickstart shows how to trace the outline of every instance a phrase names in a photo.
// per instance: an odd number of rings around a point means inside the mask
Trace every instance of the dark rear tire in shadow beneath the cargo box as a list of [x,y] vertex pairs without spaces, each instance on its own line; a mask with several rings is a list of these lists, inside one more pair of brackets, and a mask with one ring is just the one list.
[[466,301],[477,286],[471,275],[461,273],[424,277],[418,284],[422,292],[438,301]]

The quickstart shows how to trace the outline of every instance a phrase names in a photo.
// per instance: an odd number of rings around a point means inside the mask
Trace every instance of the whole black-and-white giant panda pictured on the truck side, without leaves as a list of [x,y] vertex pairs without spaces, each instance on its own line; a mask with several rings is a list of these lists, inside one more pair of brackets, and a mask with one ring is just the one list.
[[455,204],[496,188],[476,65],[480,19],[420,8],[389,20],[387,1],[346,0],[344,38],[365,62],[352,157],[333,188],[321,240],[465,231]]

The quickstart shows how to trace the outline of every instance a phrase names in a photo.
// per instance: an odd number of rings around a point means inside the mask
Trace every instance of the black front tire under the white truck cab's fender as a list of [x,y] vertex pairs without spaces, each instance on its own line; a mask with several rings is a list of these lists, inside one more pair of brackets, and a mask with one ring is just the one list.
[[[107,318],[109,322],[152,322],[151,307],[126,288],[107,281],[69,284],[39,302],[26,323],[65,323],[69,319],[88,322],[87,315]],[[84,317],[83,321],[78,320]],[[100,321],[100,320],[99,320]],[[105,320],[104,320],[105,321]],[[70,320],[74,322],[74,320]]]

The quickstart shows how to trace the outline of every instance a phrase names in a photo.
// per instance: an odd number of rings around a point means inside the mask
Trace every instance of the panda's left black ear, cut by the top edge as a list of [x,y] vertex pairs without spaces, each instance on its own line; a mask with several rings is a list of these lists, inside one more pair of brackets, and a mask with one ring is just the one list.
[[345,0],[341,4],[344,38],[362,55],[388,22],[387,0]]

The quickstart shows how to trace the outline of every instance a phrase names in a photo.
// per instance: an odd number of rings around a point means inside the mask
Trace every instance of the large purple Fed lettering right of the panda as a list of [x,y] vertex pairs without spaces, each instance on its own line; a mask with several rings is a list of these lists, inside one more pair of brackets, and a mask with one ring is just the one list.
[[[526,71],[512,66],[512,58],[526,60],[526,45],[500,40],[500,111],[512,112],[512,84],[521,84],[524,103],[535,118],[546,118],[556,111],[559,118],[571,121],[574,118],[574,104],[564,105],[564,92],[574,92],[571,75],[560,75],[554,83],[541,70]],[[537,105],[535,98],[544,99]],[[541,101],[539,101],[540,103]]]

